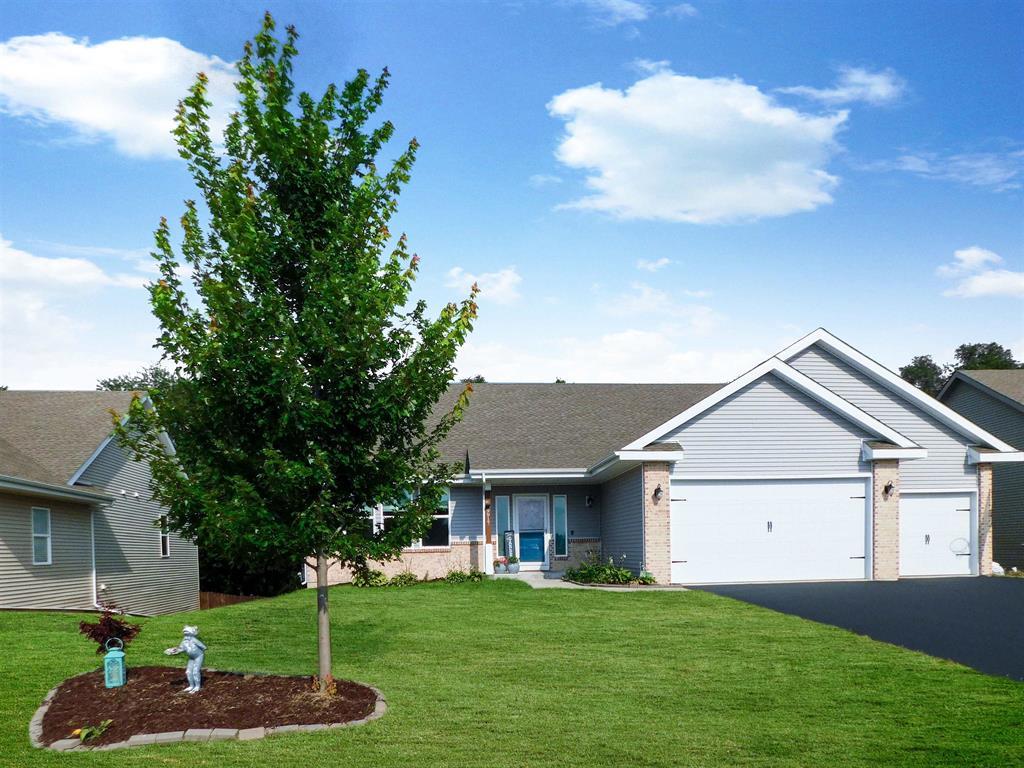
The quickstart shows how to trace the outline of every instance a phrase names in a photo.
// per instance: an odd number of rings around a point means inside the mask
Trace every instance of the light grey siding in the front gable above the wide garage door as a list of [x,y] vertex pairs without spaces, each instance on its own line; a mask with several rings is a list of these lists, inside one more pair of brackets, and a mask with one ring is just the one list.
[[849,475],[870,435],[772,374],[755,381],[664,440],[683,446],[672,476]]

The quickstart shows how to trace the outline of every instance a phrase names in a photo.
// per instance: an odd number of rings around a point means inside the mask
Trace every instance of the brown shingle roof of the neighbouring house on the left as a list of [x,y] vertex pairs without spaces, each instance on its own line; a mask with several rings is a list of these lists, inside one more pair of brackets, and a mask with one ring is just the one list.
[[62,484],[111,433],[132,392],[0,392],[0,475]]

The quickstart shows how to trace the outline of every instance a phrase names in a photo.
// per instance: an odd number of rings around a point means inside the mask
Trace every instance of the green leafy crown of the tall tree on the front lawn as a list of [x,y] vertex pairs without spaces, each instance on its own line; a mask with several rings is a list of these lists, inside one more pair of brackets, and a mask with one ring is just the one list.
[[[471,386],[450,411],[435,403],[477,309],[475,286],[434,317],[413,299],[419,258],[388,224],[418,144],[381,169],[394,127],[371,125],[387,70],[297,93],[297,37],[279,40],[267,14],[246,44],[222,150],[203,74],[179,104],[174,134],[202,197],[185,202],[180,259],[167,220],[157,229],[150,298],[181,378],[118,428],[150,462],[171,527],[217,556],[296,569],[312,554],[389,559],[426,531],[454,471],[436,446]],[[368,518],[376,504],[395,509],[385,530]]]

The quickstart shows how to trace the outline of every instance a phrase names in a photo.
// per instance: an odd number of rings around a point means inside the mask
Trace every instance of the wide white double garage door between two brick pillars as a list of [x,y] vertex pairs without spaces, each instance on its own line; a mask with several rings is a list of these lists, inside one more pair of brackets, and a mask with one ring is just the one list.
[[679,481],[672,581],[865,579],[867,480]]

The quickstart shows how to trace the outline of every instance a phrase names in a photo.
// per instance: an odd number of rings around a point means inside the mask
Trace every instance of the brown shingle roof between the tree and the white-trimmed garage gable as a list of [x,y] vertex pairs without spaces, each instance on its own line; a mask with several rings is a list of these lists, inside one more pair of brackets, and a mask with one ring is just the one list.
[[[441,445],[469,451],[472,469],[591,467],[722,384],[474,384],[469,408]],[[438,408],[450,409],[462,385]]]

